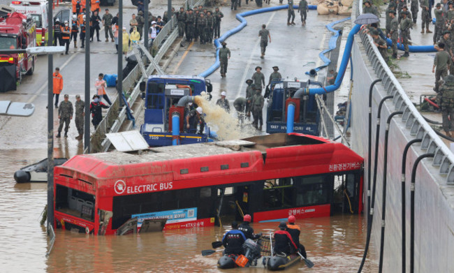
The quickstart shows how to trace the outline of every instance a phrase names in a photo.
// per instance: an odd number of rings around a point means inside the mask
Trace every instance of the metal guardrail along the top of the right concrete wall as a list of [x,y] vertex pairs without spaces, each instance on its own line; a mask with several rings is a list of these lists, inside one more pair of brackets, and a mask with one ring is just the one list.
[[[357,4],[357,7],[356,11],[358,13],[356,14],[362,13],[362,6]],[[394,73],[390,71],[383,57],[381,57],[372,37],[367,34],[359,35],[372,68],[374,68],[377,77],[382,79],[381,85],[388,95],[394,96],[393,104],[395,105],[395,110],[404,112],[402,122],[410,130],[411,135],[423,140],[420,145],[421,150],[425,151],[425,153],[435,154],[432,165],[439,167],[439,175],[446,175],[447,184],[454,184],[454,154],[446,147],[410,101],[400,82],[395,78]]]

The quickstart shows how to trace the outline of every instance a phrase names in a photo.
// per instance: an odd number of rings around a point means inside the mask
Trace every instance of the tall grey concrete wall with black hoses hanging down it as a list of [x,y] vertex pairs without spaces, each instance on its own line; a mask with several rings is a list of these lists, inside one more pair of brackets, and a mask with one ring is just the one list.
[[[363,37],[364,38],[364,37]],[[352,120],[351,120],[351,144],[352,148],[365,158],[367,166],[367,131],[368,131],[368,97],[369,86],[376,80],[373,66],[369,62],[365,47],[360,35],[356,36],[352,50],[353,59],[353,94]],[[379,71],[381,77],[383,73]],[[417,79],[416,79],[417,80]],[[374,158],[374,143],[376,135],[376,112],[381,98],[388,95],[386,91],[389,82],[383,80],[384,85],[379,82],[374,88],[372,96],[372,170]],[[392,91],[391,91],[392,93]],[[396,96],[397,92],[394,93]],[[397,103],[397,109],[395,108]],[[376,249],[376,258],[379,259],[380,235],[381,235],[381,204],[383,189],[383,145],[386,119],[391,112],[402,110],[402,104],[398,99],[390,99],[383,105],[381,112],[381,132],[379,141],[379,159],[376,186],[376,202],[374,209],[374,221],[372,227],[372,243]],[[404,114],[405,115],[405,114]],[[402,198],[401,198],[401,165],[402,154],[405,145],[409,140],[427,136],[427,133],[411,133],[407,128],[408,117],[402,115],[393,117],[390,123],[388,139],[388,172],[387,172],[387,197],[386,197],[386,233],[383,258],[383,272],[400,272],[402,268]],[[432,134],[432,133],[431,133]],[[431,140],[434,141],[433,139]],[[432,143],[431,142],[431,143]],[[407,156],[406,175],[406,221],[407,221],[407,272],[409,272],[409,251],[410,251],[410,180],[413,162],[421,154],[431,150],[430,144],[413,144]],[[448,159],[452,158],[451,152],[446,152],[444,147],[435,151],[443,150],[444,162],[449,165],[451,173],[452,164]],[[433,150],[432,150],[433,151]],[[431,152],[432,152],[431,151]],[[449,154],[448,154],[449,153]],[[454,186],[448,185],[450,176],[448,172],[441,170],[441,167],[433,158],[420,162],[416,173],[415,191],[415,272],[454,272]],[[433,165],[435,163],[435,166]],[[442,173],[440,175],[440,173]],[[367,170],[365,170],[365,193],[367,193]],[[367,196],[364,195],[365,207],[367,208]],[[365,211],[365,214],[367,212]]]

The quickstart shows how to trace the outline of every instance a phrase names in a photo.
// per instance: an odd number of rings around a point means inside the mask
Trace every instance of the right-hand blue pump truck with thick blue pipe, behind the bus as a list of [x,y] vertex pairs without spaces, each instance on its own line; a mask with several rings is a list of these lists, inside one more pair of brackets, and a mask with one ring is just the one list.
[[302,94],[310,85],[321,82],[273,81],[267,109],[267,133],[305,133],[319,135],[320,112],[314,95]]

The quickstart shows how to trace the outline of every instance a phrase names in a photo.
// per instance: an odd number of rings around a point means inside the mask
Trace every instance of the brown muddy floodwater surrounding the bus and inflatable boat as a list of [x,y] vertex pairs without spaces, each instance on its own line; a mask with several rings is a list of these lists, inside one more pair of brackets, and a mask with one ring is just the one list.
[[[56,156],[58,150],[54,151]],[[46,156],[43,149],[0,148],[0,271],[1,272],[219,272],[220,252],[201,256],[211,242],[222,238],[225,228],[205,227],[126,236],[93,236],[56,230],[57,239],[48,258],[41,212],[47,202],[46,184],[16,184],[15,170]],[[27,161],[23,161],[27,158]],[[315,267],[303,263],[286,272],[356,272],[363,256],[363,216],[338,215],[299,220],[301,242]],[[266,233],[278,223],[253,223]],[[363,272],[376,272],[368,259]],[[229,272],[263,272],[263,268]]]

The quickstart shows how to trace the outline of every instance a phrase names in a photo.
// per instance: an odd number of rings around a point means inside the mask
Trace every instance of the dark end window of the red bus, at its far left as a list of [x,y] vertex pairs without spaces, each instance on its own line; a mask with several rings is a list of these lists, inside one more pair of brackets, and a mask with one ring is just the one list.
[[94,221],[94,195],[57,184],[55,195],[57,212]]

